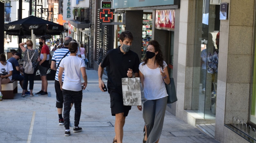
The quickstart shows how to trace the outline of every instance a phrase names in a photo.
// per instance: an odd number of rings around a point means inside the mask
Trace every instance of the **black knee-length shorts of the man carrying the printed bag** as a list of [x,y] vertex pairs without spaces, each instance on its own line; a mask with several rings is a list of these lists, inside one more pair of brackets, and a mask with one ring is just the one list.
[[110,89],[110,108],[112,116],[118,113],[124,113],[124,117],[127,117],[131,106],[124,106],[123,96],[118,92]]

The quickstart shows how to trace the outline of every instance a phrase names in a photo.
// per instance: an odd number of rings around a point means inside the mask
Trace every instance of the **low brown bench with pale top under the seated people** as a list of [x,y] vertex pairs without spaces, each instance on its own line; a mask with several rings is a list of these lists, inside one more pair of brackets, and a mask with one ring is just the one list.
[[10,83],[2,85],[2,99],[13,99],[14,94],[18,93],[18,81],[12,79]]

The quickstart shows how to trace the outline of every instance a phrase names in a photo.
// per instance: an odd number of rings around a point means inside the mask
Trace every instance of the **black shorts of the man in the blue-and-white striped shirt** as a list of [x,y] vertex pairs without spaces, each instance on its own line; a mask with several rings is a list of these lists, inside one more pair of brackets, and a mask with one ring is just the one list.
[[[63,100],[63,94],[62,94],[60,82],[55,80],[54,87],[56,92],[56,107],[63,108],[64,100]],[[71,103],[74,103],[74,101],[72,100]]]

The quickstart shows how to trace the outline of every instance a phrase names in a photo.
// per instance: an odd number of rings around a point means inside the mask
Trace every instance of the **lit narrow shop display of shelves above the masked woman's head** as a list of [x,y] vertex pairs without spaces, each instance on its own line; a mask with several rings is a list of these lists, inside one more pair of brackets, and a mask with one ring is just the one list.
[[152,13],[143,14],[142,26],[142,48],[141,48],[141,61],[144,59],[147,51],[148,42],[152,40]]

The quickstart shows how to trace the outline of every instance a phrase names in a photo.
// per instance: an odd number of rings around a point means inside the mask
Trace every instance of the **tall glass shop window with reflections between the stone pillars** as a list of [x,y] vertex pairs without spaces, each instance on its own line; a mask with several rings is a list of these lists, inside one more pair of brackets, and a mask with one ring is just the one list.
[[215,119],[220,2],[196,1],[196,25],[191,109],[204,119]]

